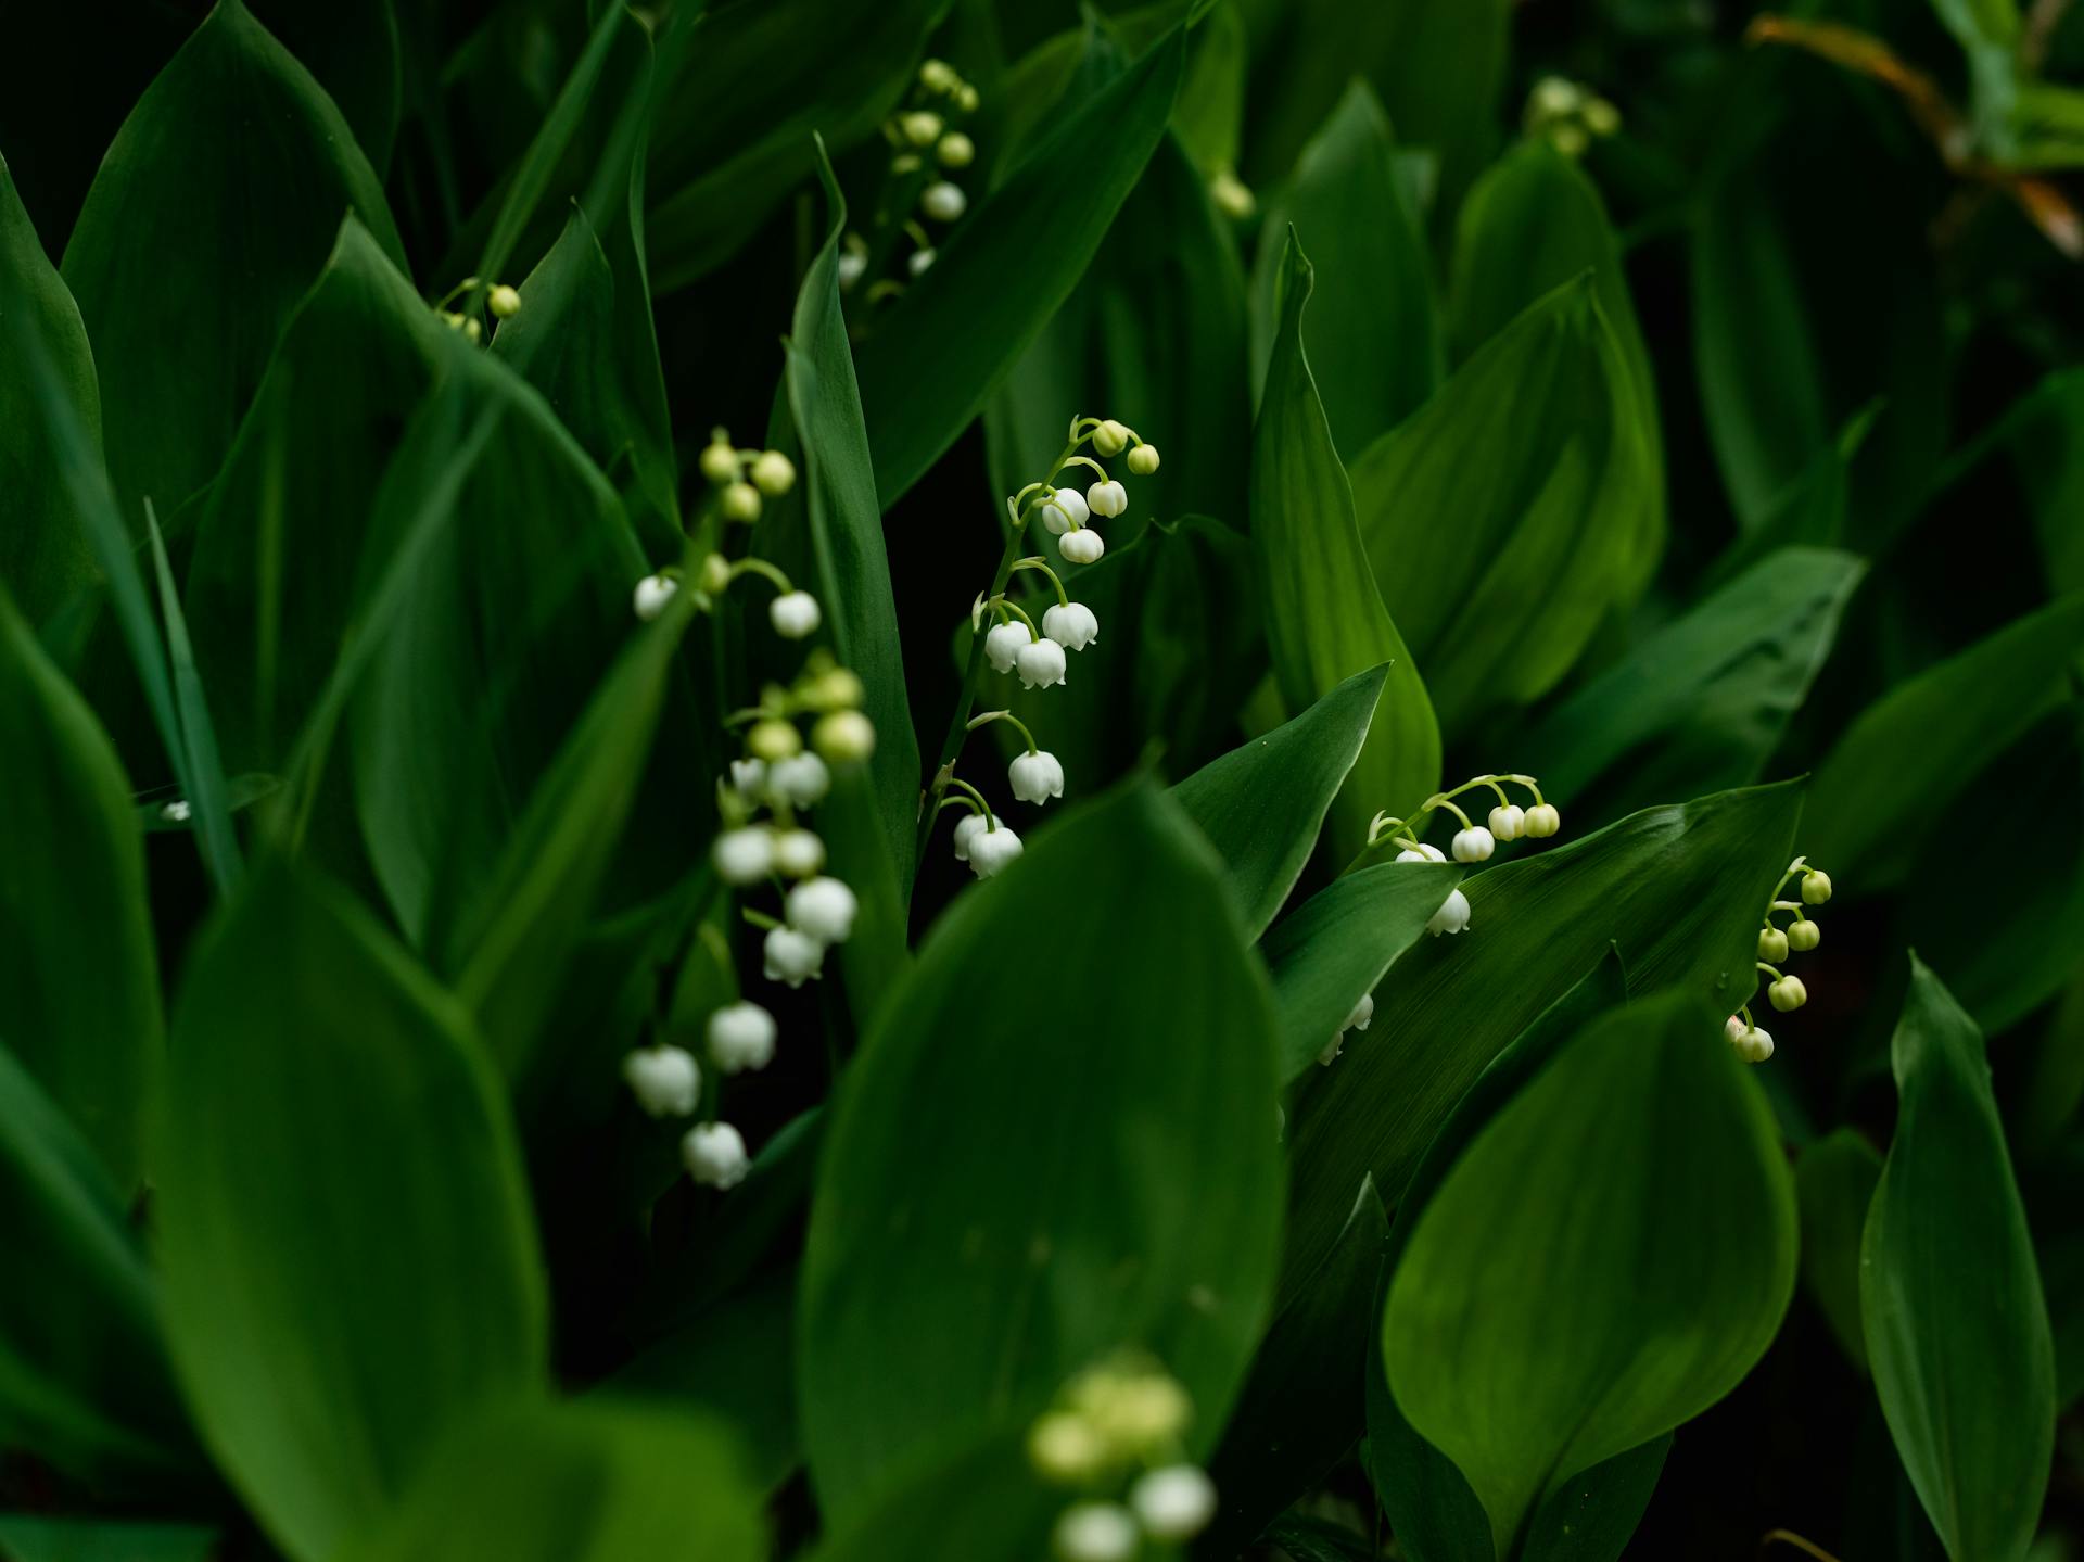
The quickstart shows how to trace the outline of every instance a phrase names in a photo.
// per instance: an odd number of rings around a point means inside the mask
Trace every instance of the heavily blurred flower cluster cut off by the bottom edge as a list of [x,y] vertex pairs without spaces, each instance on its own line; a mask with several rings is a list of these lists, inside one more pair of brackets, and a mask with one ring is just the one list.
[[1057,1518],[1061,1562],[1127,1562],[1144,1541],[1177,1545],[1215,1518],[1215,1485],[1184,1458],[1186,1389],[1123,1358],[1080,1372],[1027,1431],[1027,1458],[1084,1495]]

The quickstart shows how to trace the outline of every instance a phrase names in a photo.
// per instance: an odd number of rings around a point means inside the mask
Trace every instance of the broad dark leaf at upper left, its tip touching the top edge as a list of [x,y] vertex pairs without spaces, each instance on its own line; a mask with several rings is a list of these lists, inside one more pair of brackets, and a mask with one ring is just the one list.
[[342,211],[404,263],[333,100],[221,0],[123,123],[65,250],[133,534],[140,496],[171,513],[217,473]]

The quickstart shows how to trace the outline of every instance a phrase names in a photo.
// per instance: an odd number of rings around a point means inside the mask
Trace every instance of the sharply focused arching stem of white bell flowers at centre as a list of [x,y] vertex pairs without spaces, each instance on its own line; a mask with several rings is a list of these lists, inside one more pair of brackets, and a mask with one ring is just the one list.
[[[1007,780],[1013,786],[1013,797],[1038,807],[1052,797],[1063,797],[1063,765],[1057,755],[1036,745],[1027,724],[1013,711],[984,711],[971,717],[969,701],[975,699],[975,686],[986,667],[998,676],[1017,674],[1021,688],[1055,688],[1069,676],[1071,653],[1084,651],[1100,638],[1100,619],[1084,603],[1071,601],[1063,578],[1050,569],[1048,559],[1040,555],[1019,557],[1027,526],[1038,517],[1042,528],[1057,538],[1057,551],[1071,563],[1092,563],[1105,551],[1100,534],[1092,530],[1090,521],[1094,515],[1121,515],[1130,496],[1098,461],[1084,455],[1088,444],[1107,457],[1125,453],[1130,471],[1150,473],[1159,469],[1157,446],[1130,425],[1111,417],[1073,417],[1069,442],[1048,473],[1007,496],[1007,555],[998,565],[992,590],[979,592],[969,609],[971,657],[963,682],[963,707],[948,732],[940,770],[927,784],[919,836],[923,847],[940,809],[969,809],[954,826],[954,859],[969,863],[977,878],[990,878],[1019,857],[1021,838],[992,813],[992,805],[975,786],[957,778],[954,761],[961,757],[967,734],[992,722],[1011,722],[1027,742],[1027,753],[1015,755],[1009,765]],[[1096,478],[1084,494],[1077,488],[1057,486],[1057,478],[1073,465],[1088,467]],[[1007,586],[1023,571],[1042,576],[1057,594],[1055,605],[1044,609],[1040,626],[1027,609],[1007,594]],[[948,797],[950,788],[954,797]]]

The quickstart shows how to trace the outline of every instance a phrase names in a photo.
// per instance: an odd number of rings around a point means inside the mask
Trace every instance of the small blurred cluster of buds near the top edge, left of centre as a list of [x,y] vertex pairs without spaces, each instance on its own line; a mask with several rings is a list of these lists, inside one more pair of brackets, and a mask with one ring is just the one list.
[[869,234],[850,231],[840,242],[840,286],[852,292],[867,275],[871,304],[904,292],[896,277],[879,275],[898,240],[911,246],[904,273],[921,275],[938,254],[927,223],[948,225],[969,211],[969,194],[954,175],[977,161],[977,144],[959,129],[977,111],[977,90],[948,60],[923,60],[911,96],[884,119],[890,169],[875,202]]

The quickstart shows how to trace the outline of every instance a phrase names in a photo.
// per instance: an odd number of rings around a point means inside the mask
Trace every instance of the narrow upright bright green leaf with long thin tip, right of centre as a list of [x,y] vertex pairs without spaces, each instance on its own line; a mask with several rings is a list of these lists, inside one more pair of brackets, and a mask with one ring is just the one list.
[[[1280,334],[1252,430],[1252,538],[1267,590],[1267,640],[1282,699],[1300,711],[1367,667],[1390,663],[1375,722],[1332,815],[1332,843],[1353,855],[1375,811],[1409,813],[1440,780],[1432,701],[1375,590],[1353,488],[1332,448],[1302,350],[1313,271],[1296,236],[1282,261]],[[1359,1187],[1355,1174],[1350,1187]]]

